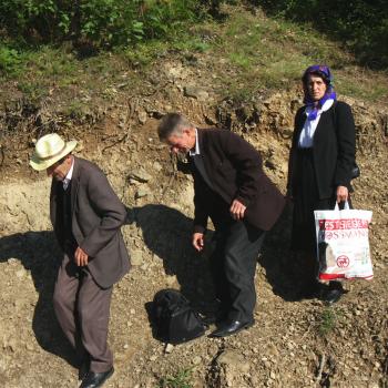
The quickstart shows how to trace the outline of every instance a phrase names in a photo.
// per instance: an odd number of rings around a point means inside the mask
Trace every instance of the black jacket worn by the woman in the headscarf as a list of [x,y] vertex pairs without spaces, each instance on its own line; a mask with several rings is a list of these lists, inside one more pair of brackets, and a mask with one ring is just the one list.
[[[296,166],[296,150],[307,116],[305,106],[295,116],[295,130],[289,154],[288,192],[293,193],[293,177]],[[355,164],[356,130],[350,106],[336,102],[323,112],[314,133],[313,157],[319,198],[329,198],[338,186],[350,187],[351,170]]]

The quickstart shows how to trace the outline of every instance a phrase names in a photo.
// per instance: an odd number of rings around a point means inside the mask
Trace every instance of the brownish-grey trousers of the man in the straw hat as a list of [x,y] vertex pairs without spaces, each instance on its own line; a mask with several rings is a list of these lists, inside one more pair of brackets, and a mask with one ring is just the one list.
[[80,363],[90,360],[90,370],[103,372],[113,365],[108,347],[112,288],[101,288],[85,268],[64,254],[58,272],[53,305],[59,324],[75,349]]

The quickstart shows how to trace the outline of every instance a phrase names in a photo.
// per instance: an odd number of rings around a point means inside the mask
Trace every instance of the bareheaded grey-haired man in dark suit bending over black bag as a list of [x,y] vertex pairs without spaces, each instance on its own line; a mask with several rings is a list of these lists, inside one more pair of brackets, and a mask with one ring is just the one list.
[[188,154],[195,193],[194,248],[204,247],[208,217],[216,229],[210,262],[219,310],[211,336],[235,334],[254,324],[257,256],[265,231],[283,211],[284,197],[265,175],[259,153],[233,132],[197,130],[181,114],[170,113],[159,136],[172,152]]

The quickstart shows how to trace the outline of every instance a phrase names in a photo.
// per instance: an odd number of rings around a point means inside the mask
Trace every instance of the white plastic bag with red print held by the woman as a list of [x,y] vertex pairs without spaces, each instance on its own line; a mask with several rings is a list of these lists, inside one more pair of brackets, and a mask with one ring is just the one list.
[[315,211],[317,257],[320,280],[371,279],[368,226],[372,212],[349,210]]

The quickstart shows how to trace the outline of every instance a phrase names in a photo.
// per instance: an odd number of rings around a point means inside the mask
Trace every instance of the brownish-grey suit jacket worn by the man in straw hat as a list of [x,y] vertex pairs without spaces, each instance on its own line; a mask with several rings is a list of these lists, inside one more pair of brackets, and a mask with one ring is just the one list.
[[[52,181],[50,217],[63,249],[64,234],[55,219],[57,192],[62,182]],[[74,156],[71,180],[72,234],[89,255],[88,268],[103,288],[112,286],[130,267],[130,258],[120,227],[126,211],[104,173],[94,164]]]

